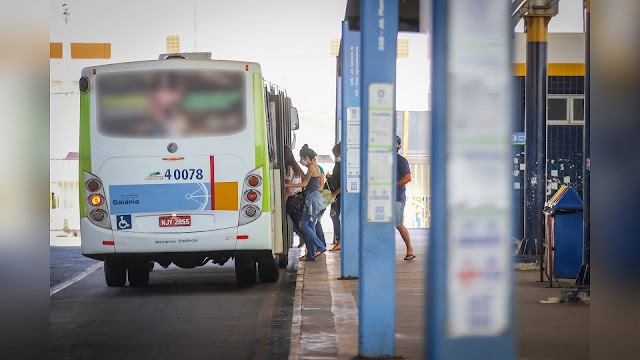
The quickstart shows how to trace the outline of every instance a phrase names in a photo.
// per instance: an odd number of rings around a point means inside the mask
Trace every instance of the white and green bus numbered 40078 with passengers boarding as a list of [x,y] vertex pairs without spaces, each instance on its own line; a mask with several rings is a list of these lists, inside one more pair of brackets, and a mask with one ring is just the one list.
[[256,265],[277,281],[292,242],[283,148],[298,119],[259,64],[163,54],[84,68],[79,84],[82,253],[104,261],[108,286],[146,286],[156,262],[229,259],[240,283]]

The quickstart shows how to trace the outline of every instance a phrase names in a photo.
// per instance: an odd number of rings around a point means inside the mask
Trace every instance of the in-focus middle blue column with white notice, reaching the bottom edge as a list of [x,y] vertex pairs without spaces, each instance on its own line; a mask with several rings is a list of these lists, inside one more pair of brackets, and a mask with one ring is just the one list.
[[[395,352],[395,82],[398,0],[360,2],[362,43],[361,356]],[[373,103],[371,103],[373,100]]]

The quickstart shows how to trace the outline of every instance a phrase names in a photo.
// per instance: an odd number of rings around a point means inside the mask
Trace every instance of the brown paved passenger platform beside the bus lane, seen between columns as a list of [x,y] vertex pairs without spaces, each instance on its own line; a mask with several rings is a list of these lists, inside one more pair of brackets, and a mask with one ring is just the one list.
[[[423,359],[427,231],[410,233],[416,254],[411,261],[403,260],[405,246],[396,237],[395,355]],[[300,262],[298,268],[289,359],[353,359],[358,355],[358,280],[339,280],[340,253],[326,252],[317,260]],[[518,359],[589,358],[589,306],[541,303],[559,298],[560,289],[538,279],[536,271],[517,271]]]

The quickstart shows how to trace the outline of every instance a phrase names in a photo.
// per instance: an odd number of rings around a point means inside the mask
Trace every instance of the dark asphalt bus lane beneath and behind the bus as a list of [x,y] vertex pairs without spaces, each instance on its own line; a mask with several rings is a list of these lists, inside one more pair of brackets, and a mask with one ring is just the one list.
[[[51,249],[51,286],[95,263]],[[233,266],[156,264],[146,288],[108,288],[100,268],[51,296],[49,358],[288,358],[295,272],[239,286]]]

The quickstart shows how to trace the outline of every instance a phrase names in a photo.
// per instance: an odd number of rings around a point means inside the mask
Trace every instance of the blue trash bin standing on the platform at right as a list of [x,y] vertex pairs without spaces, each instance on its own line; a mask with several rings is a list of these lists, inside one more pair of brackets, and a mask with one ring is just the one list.
[[583,204],[575,189],[563,185],[545,204],[547,275],[575,279],[582,265]]

